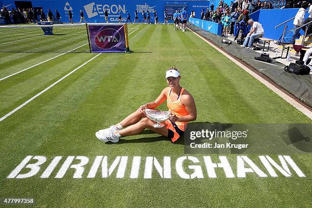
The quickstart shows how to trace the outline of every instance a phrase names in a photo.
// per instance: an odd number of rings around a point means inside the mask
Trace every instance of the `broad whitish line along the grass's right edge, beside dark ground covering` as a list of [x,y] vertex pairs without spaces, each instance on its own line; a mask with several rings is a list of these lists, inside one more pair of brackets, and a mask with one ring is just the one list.
[[272,90],[273,92],[275,92],[277,95],[279,95],[281,98],[283,98],[285,101],[287,101],[288,103],[290,103],[290,105],[292,105],[293,107],[295,107],[297,110],[299,110],[301,113],[303,113],[304,115],[306,115],[308,118],[312,119],[312,112],[310,112],[308,109],[304,108],[303,106],[301,106],[298,102],[296,102],[293,98],[289,97],[287,94],[283,93],[280,89],[276,88],[274,85],[272,85],[271,83],[269,83],[268,81],[266,81],[265,79],[263,79],[263,77],[259,76],[258,74],[256,74],[255,72],[253,72],[252,70],[250,70],[248,67],[246,67],[245,65],[243,65],[242,63],[240,63],[239,61],[237,61],[236,59],[232,58],[231,56],[228,56],[223,50],[220,50],[217,46],[215,46],[214,44],[212,44],[211,42],[207,41],[206,39],[204,39],[203,37],[201,37],[200,35],[198,35],[197,33],[195,33],[194,31],[192,31],[197,37],[199,37],[200,39],[202,39],[203,41],[205,41],[206,43],[210,44],[212,47],[214,47],[216,50],[218,50],[221,54],[223,54],[226,58],[228,58],[229,60],[231,60],[232,62],[234,62],[235,64],[237,64],[238,66],[240,66],[242,69],[244,69],[246,72],[248,72],[251,76],[255,77],[255,79],[257,79],[259,82],[261,82],[262,84],[264,84],[265,86],[267,86],[270,90]]

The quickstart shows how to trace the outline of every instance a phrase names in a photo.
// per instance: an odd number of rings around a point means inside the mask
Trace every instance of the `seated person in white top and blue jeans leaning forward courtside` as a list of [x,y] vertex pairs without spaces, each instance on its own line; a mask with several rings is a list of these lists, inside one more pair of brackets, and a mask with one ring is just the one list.
[[253,40],[255,38],[261,38],[264,35],[264,29],[259,22],[248,20],[248,24],[251,26],[251,31],[247,34],[243,45],[241,47],[251,48]]

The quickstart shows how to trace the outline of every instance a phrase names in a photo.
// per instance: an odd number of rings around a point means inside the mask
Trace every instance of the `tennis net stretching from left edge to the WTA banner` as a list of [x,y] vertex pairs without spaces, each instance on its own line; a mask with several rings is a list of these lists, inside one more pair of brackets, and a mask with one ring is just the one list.
[[91,52],[87,24],[2,26],[0,37],[0,52]]

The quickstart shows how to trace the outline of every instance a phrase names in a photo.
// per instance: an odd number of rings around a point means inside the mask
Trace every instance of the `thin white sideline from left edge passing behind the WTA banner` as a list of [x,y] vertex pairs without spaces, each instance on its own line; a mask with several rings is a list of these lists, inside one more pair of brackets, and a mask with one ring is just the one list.
[[[138,29],[136,29],[135,31],[137,31]],[[131,35],[132,33],[134,33],[135,31],[132,31],[131,33],[129,33],[128,35]],[[65,53],[64,53],[65,54]],[[9,112],[7,115],[3,116],[2,118],[0,118],[0,121],[3,121],[4,119],[6,119],[7,117],[9,117],[10,115],[12,115],[13,113],[15,113],[16,111],[18,111],[19,109],[21,109],[22,107],[24,107],[25,105],[27,105],[27,103],[31,102],[32,100],[34,100],[36,97],[38,97],[39,95],[41,95],[42,93],[46,92],[47,90],[49,90],[51,87],[55,86],[56,84],[58,84],[59,82],[61,82],[62,80],[64,80],[67,76],[69,76],[70,74],[72,74],[73,72],[75,72],[76,70],[80,69],[81,67],[83,67],[84,65],[86,65],[87,63],[89,63],[90,61],[92,61],[93,59],[95,59],[96,57],[98,57],[100,54],[96,55],[95,57],[89,59],[87,62],[83,63],[82,65],[80,65],[79,67],[75,68],[74,70],[72,70],[71,72],[69,72],[68,74],[66,74],[65,76],[63,76],[61,79],[59,79],[58,81],[56,81],[55,83],[51,84],[50,86],[48,86],[47,88],[45,88],[44,90],[42,90],[41,92],[39,92],[38,94],[36,94],[35,96],[33,96],[32,98],[28,99],[27,101],[25,101],[24,103],[22,103],[22,105],[20,105],[19,107],[15,108],[14,110],[12,110],[11,112]]]

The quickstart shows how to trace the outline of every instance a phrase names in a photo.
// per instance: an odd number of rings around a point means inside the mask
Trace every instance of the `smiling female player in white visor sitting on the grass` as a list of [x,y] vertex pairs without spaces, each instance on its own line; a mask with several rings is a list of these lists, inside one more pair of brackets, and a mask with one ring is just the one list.
[[[180,86],[180,73],[178,68],[171,67],[166,71],[166,87],[152,102],[141,106],[137,111],[128,115],[121,122],[95,133],[102,141],[118,142],[120,137],[141,134],[145,128],[154,133],[163,135],[175,142],[186,131],[187,123],[195,121],[197,117],[195,101],[192,95]],[[171,111],[170,118],[165,121],[162,128],[153,127],[153,121],[145,115],[145,109],[154,109],[167,100],[167,107]],[[126,128],[125,128],[126,127]]]

